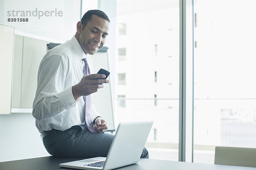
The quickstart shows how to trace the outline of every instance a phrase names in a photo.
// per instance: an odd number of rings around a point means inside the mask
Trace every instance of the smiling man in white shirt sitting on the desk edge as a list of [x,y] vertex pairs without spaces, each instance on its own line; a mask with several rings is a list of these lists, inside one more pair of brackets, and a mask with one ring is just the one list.
[[[105,44],[110,20],[99,10],[87,11],[76,35],[48,51],[38,70],[33,116],[44,146],[53,156],[107,156],[113,135],[90,103],[90,94],[109,81],[93,73],[90,55]],[[89,115],[89,117],[88,117]],[[93,127],[94,125],[94,127]],[[142,158],[148,158],[144,148]]]

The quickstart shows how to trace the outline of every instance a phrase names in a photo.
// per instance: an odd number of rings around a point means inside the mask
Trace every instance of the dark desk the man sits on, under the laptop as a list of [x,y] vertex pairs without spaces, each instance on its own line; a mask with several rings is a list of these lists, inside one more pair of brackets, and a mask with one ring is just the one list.
[[[56,158],[53,156],[47,156],[41,158],[7,161],[0,162],[0,170],[68,170],[69,168],[59,167],[59,164],[80,159],[83,158]],[[116,170],[256,170],[256,168],[163,161],[156,159],[140,159],[138,164],[118,168]]]

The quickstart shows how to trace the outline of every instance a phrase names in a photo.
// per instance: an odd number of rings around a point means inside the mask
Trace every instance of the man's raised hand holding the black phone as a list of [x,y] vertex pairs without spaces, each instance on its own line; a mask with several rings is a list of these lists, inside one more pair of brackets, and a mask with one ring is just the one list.
[[77,100],[80,96],[88,96],[98,91],[98,88],[103,88],[103,83],[109,83],[105,78],[105,74],[90,74],[82,77],[81,81],[72,86],[74,99]]

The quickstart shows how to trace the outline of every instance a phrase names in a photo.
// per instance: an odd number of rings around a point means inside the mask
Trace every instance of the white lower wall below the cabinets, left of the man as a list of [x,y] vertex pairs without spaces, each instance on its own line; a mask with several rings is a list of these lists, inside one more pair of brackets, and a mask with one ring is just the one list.
[[0,115],[0,162],[49,156],[31,113]]

